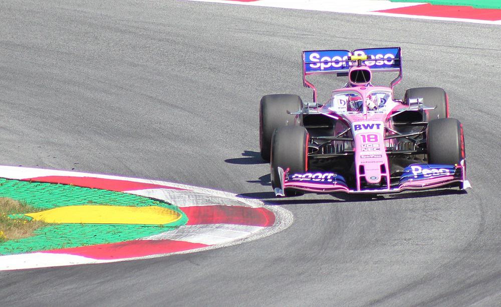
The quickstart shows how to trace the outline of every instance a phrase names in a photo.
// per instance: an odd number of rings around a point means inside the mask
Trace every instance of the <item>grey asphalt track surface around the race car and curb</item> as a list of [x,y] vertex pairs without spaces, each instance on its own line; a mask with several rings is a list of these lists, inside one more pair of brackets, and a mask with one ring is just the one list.
[[[3,271],[2,305],[501,301],[501,28],[180,1],[63,3],[0,3],[1,164],[231,191],[284,206],[295,222],[200,253]],[[310,98],[304,49],[389,45],[404,51],[397,93],[447,90],[473,190],[274,199],[258,157],[260,97]]]

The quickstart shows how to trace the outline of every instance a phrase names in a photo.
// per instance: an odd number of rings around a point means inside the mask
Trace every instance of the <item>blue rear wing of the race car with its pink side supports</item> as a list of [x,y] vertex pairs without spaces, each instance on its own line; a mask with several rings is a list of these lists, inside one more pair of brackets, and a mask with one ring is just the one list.
[[366,48],[353,52],[348,50],[303,51],[303,85],[313,90],[313,102],[317,101],[317,89],[306,80],[306,76],[323,74],[347,76],[350,67],[355,65],[357,60],[363,62],[373,72],[398,72],[398,77],[391,82],[391,88],[402,80],[400,47]]

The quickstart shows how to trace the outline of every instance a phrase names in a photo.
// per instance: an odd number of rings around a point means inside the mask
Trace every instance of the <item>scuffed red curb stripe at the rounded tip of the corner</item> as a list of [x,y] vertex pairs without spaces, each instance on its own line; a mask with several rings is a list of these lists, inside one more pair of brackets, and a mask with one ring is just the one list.
[[236,224],[269,227],[275,223],[275,214],[265,208],[214,205],[180,209],[188,217],[186,225]]

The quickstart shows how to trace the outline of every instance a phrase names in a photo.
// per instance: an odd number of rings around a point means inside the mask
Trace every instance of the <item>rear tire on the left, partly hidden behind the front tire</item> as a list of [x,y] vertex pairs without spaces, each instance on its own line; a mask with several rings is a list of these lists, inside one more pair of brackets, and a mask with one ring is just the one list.
[[261,98],[259,109],[259,146],[261,157],[270,161],[272,135],[275,129],[289,124],[294,124],[294,113],[303,108],[303,101],[298,95],[274,94]]

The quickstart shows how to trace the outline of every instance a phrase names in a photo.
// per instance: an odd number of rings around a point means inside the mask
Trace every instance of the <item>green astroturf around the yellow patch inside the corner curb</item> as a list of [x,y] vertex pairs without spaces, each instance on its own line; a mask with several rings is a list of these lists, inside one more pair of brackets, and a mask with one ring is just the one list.
[[138,207],[160,206],[181,213],[179,220],[160,226],[48,224],[46,227],[37,229],[32,237],[0,243],[0,255],[128,241],[172,230],[188,221],[186,215],[178,207],[162,201],[73,185],[30,183],[0,178],[0,197],[10,197],[23,201],[40,210],[69,205],[107,204]]

